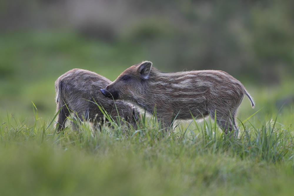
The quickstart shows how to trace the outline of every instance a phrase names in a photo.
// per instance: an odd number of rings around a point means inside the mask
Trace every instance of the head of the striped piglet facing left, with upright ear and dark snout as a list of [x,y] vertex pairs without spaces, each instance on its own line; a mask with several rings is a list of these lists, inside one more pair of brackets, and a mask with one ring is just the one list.
[[127,68],[113,83],[101,89],[101,93],[111,99],[124,100],[134,100],[142,96],[142,85],[149,78],[151,66],[150,61],[144,61]]

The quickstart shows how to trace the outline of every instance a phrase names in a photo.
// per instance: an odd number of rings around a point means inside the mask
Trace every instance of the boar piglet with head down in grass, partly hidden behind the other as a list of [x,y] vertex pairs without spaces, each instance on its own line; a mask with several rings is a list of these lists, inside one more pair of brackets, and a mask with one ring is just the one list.
[[58,130],[64,128],[66,117],[70,113],[74,113],[73,115],[81,120],[89,119],[94,125],[98,125],[99,120],[103,120],[103,113],[95,103],[88,100],[96,101],[114,120],[119,115],[137,129],[136,122],[141,118],[141,114],[134,105],[121,100],[116,101],[117,112],[113,100],[106,99],[100,93],[99,89],[105,88],[110,83],[107,78],[83,69],[73,69],[60,76],[55,81],[56,111],[63,106],[58,114]]

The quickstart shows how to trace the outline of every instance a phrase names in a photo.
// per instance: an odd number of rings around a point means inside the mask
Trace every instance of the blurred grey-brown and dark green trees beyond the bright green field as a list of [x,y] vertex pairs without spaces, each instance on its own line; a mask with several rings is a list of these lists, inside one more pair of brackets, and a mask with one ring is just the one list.
[[141,48],[160,69],[278,83],[294,72],[293,8],[293,0],[2,0],[0,33],[71,29]]

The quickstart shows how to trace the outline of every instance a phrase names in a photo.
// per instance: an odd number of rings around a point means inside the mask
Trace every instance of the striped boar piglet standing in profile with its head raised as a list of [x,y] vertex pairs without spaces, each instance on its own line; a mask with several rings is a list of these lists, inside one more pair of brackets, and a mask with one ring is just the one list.
[[235,117],[244,97],[250,97],[243,84],[224,71],[203,70],[164,73],[149,61],[131,66],[111,84],[101,89],[104,96],[127,100],[154,112],[168,126],[173,118],[199,119],[208,115],[220,128],[237,129]]

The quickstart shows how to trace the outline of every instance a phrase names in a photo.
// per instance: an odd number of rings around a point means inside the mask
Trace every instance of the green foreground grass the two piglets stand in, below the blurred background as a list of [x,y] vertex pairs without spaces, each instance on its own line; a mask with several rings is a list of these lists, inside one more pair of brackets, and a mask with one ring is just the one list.
[[[292,115],[283,113],[282,115]],[[34,123],[13,116],[0,127],[3,195],[289,195],[293,192],[292,122],[255,116],[239,138],[214,120],[162,132],[154,117],[138,130],[103,126],[56,133],[34,108]],[[283,118],[283,116],[282,116]],[[51,119],[52,120],[52,119]],[[144,118],[143,118],[144,121]]]

